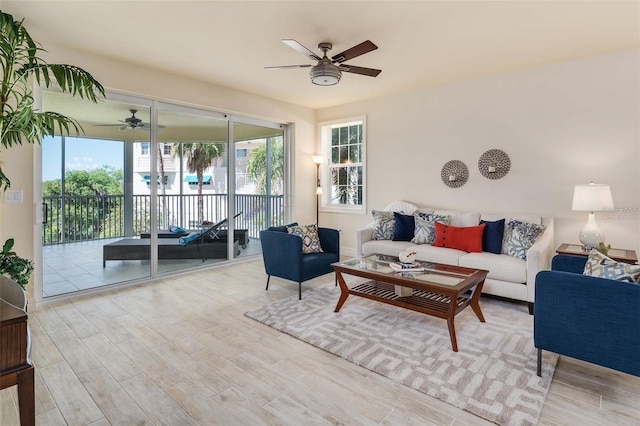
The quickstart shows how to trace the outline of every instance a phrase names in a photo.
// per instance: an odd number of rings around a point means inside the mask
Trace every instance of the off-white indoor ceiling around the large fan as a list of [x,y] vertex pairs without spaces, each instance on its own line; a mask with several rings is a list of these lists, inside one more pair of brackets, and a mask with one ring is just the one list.
[[[9,1],[32,36],[311,108],[640,46],[640,1]],[[293,38],[333,53],[367,39],[378,50],[331,87]],[[91,72],[90,67],[88,71]]]

